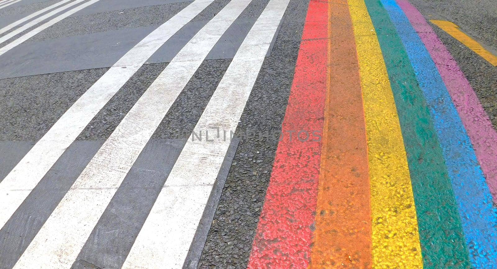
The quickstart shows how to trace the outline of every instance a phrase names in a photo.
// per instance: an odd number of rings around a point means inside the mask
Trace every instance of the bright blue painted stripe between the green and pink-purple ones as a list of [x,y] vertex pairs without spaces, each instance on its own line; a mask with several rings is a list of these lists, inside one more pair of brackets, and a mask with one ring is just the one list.
[[381,2],[402,39],[433,118],[473,266],[496,269],[497,210],[466,129],[430,54],[403,10],[395,0]]

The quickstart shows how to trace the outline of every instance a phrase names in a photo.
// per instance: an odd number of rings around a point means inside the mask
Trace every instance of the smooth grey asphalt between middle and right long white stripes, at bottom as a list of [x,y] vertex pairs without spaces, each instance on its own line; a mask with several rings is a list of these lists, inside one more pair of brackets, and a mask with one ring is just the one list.
[[92,228],[72,269],[88,269],[88,263],[98,265],[93,269],[122,267],[184,144],[185,139],[147,143]]

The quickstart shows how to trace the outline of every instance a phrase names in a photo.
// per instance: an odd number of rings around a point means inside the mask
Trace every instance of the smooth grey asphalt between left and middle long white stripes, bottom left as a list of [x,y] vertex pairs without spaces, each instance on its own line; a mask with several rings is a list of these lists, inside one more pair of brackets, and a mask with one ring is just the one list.
[[75,141],[0,229],[0,265],[11,269],[103,141]]

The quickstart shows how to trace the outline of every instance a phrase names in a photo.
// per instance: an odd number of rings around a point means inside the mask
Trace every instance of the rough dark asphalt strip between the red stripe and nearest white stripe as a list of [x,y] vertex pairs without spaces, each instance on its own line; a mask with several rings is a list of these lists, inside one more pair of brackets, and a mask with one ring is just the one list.
[[[308,0],[290,1],[271,55],[265,59],[248,99],[238,134],[281,130],[308,4]],[[260,13],[262,8],[252,12]],[[256,132],[254,138],[240,141],[199,269],[247,268],[277,147],[277,141],[263,136]]]

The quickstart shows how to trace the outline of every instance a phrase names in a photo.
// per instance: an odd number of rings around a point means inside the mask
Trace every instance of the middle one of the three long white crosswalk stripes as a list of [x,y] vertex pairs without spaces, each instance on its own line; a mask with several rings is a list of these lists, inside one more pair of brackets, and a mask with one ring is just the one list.
[[14,269],[71,267],[169,107],[250,1],[230,1],[172,59],[95,154]]

